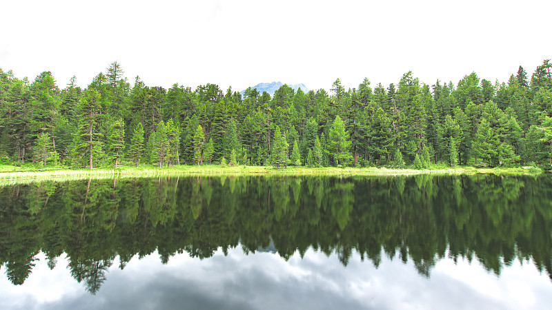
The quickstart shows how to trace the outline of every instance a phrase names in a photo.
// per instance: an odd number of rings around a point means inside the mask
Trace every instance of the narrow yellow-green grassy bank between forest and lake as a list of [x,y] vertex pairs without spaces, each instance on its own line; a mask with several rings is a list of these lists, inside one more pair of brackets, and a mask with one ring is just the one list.
[[287,167],[277,169],[275,167],[258,166],[220,166],[202,165],[159,168],[154,165],[121,166],[117,169],[67,169],[67,168],[41,168],[0,166],[0,180],[20,181],[36,179],[81,179],[81,178],[124,178],[124,177],[153,177],[172,175],[343,175],[343,176],[411,176],[415,174],[539,174],[542,172],[537,167],[511,167],[511,168],[475,168],[455,167],[433,169],[388,169],[386,167]]

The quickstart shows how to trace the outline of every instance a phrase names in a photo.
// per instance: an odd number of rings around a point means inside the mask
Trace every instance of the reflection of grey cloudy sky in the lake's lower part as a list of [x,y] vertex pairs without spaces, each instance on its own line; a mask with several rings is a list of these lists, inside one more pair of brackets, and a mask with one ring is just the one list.
[[1,309],[549,309],[552,283],[532,262],[504,266],[501,276],[478,260],[437,260],[430,278],[409,259],[383,254],[376,269],[353,251],[344,267],[337,255],[309,249],[301,257],[246,255],[172,256],[162,265],[154,253],[135,256],[124,270],[115,259],[96,296],[71,278],[63,254],[48,269],[44,254],[23,285],[0,275]]

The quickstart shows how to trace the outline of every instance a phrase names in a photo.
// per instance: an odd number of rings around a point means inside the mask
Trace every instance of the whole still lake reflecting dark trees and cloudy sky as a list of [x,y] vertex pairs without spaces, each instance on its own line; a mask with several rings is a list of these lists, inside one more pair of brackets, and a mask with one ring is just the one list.
[[0,309],[548,309],[552,178],[0,187]]

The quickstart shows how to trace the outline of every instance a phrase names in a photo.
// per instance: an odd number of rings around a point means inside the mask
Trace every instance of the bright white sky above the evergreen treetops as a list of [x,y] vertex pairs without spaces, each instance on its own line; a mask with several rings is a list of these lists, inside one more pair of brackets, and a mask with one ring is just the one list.
[[552,1],[43,1],[0,3],[0,68],[50,70],[85,87],[119,61],[131,83],[244,90],[262,82],[330,90],[507,81],[552,58]]

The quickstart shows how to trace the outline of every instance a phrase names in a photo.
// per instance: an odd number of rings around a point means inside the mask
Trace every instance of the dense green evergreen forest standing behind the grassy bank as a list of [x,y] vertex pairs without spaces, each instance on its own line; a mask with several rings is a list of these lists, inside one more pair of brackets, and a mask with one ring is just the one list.
[[403,74],[397,85],[273,96],[214,84],[130,85],[111,63],[85,89],[60,90],[51,72],[34,81],[0,70],[2,163],[98,167],[152,163],[306,165],[535,165],[551,162],[552,64],[507,83],[472,73],[456,85]]

